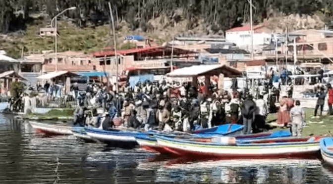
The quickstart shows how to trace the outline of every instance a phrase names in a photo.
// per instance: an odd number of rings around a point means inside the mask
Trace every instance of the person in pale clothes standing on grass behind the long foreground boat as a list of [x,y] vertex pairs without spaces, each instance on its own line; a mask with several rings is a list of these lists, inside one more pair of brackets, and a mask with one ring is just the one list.
[[305,125],[305,112],[296,100],[295,106],[290,110],[291,134],[293,137],[301,137],[303,125]]

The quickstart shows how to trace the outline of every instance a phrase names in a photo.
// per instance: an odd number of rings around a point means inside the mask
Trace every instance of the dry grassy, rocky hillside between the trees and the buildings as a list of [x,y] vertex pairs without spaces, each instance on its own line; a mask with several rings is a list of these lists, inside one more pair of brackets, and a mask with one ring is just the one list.
[[[39,28],[46,27],[47,21],[43,21],[38,25],[27,26],[26,31],[19,31],[6,35],[0,35],[0,49],[4,49],[7,54],[14,58],[20,58],[22,48],[24,54],[41,53],[43,50],[54,50],[55,39],[52,37],[40,37]],[[151,25],[149,29],[143,31],[138,28],[131,30],[130,25],[122,21],[116,29],[117,47],[121,48],[124,37],[127,35],[142,35],[145,38],[150,38],[159,44],[163,44],[171,40],[172,36],[205,36],[218,34],[223,36],[223,31],[218,33],[212,30],[204,19],[197,19],[192,28],[189,29],[189,21],[181,19],[178,22],[173,21],[167,16],[159,16],[148,21]],[[322,29],[324,22],[320,14],[312,16],[276,16],[270,17],[263,21],[272,32],[284,31],[288,27],[289,31],[296,29]],[[109,24],[101,26],[87,26],[79,28],[71,23],[68,19],[58,21],[58,40],[57,50],[61,51],[99,51],[107,46],[113,48],[113,33]]]

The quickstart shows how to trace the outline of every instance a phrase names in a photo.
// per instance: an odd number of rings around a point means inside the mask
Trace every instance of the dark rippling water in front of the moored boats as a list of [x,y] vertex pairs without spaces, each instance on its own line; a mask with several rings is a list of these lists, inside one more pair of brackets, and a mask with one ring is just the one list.
[[313,160],[193,161],[140,148],[115,149],[73,136],[43,137],[28,122],[0,114],[1,184],[332,184]]

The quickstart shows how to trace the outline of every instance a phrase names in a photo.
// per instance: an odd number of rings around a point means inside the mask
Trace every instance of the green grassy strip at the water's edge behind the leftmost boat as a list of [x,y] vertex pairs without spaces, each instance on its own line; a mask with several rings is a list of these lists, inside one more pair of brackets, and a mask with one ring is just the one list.
[[74,109],[52,109],[45,114],[28,114],[27,119],[72,119]]

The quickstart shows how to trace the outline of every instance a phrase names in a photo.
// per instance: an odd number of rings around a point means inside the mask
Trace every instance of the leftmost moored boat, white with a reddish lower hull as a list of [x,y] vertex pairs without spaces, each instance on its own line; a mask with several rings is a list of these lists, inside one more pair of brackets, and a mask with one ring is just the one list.
[[38,123],[29,121],[32,128],[34,128],[37,132],[45,134],[45,135],[71,135],[71,127],[70,126],[61,126],[61,125],[52,125],[48,123]]

